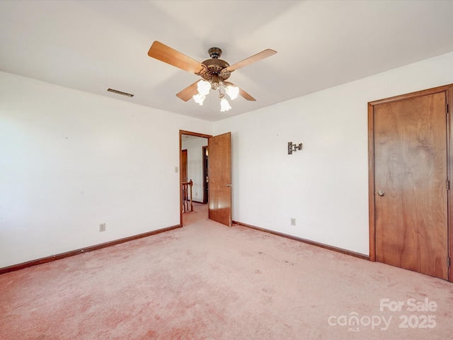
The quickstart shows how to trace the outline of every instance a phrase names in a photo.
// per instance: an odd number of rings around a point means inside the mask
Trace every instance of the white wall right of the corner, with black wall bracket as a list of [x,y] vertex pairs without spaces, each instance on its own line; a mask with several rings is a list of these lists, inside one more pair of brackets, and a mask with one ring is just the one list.
[[369,254],[367,103],[452,83],[449,53],[214,123],[233,136],[233,219]]

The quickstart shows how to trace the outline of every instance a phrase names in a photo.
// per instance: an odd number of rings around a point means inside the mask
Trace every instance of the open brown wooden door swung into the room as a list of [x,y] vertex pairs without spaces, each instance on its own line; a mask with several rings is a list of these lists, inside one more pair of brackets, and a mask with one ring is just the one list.
[[210,137],[209,218],[231,226],[231,132]]

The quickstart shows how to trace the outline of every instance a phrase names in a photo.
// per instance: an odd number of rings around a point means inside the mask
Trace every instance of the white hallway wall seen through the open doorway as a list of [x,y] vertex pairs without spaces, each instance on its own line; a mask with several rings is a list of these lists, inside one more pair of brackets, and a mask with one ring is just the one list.
[[203,202],[203,154],[202,147],[207,146],[207,138],[196,137],[182,143],[182,149],[187,149],[188,181],[192,179],[192,198]]

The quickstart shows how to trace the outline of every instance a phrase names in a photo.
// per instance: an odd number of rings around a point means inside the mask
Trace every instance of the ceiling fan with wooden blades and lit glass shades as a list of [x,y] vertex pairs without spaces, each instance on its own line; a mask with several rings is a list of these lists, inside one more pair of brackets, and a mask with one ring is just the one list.
[[[226,81],[229,79],[231,72],[277,53],[277,51],[270,49],[263,50],[241,62],[230,65],[224,60],[219,59],[222,55],[222,50],[219,49],[219,47],[211,47],[208,52],[211,59],[205,60],[204,62],[197,62],[197,60],[194,60],[187,55],[183,55],[183,53],[173,50],[173,48],[168,47],[159,41],[154,41],[151,48],[149,48],[148,55],[149,57],[153,57],[161,62],[166,62],[167,64],[171,64],[174,67],[196,74],[202,78],[176,94],[176,96],[183,101],[188,101],[190,98],[193,98],[196,103],[202,105],[205,96],[209,94],[212,89],[219,91],[219,98],[221,99],[220,111],[228,111],[231,106],[229,106],[228,101],[226,101],[224,93],[228,94],[231,100],[240,94],[248,101],[256,101],[256,99],[246,91],[243,91],[243,89],[240,89],[233,83]],[[224,89],[224,93],[221,91],[222,88]]]

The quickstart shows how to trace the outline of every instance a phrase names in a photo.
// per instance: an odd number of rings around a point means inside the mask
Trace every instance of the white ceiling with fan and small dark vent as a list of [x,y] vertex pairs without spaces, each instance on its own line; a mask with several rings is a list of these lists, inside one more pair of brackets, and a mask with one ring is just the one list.
[[[220,120],[453,51],[453,1],[0,0],[0,71],[151,108]],[[199,79],[147,55],[154,40],[195,60],[223,50],[256,98],[219,112],[176,94]],[[108,88],[133,98],[111,94]]]

